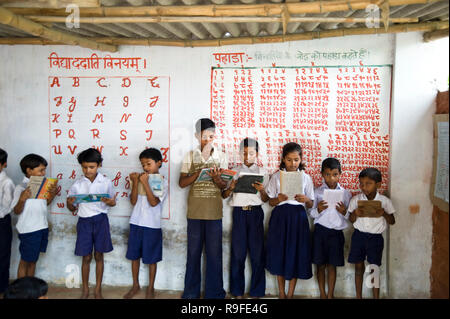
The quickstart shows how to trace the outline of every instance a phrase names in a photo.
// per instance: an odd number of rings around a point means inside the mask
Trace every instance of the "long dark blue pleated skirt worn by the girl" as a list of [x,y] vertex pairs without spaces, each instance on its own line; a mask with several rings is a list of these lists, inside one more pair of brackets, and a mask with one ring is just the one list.
[[267,232],[266,268],[272,275],[312,277],[311,233],[303,205],[276,206]]

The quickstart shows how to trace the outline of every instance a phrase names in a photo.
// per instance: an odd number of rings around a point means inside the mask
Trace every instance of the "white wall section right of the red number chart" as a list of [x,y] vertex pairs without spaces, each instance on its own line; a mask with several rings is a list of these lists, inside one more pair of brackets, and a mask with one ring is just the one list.
[[396,36],[390,189],[398,213],[389,251],[389,292],[396,298],[430,297],[432,114],[437,90],[448,90],[448,45],[448,37],[424,43],[421,33]]

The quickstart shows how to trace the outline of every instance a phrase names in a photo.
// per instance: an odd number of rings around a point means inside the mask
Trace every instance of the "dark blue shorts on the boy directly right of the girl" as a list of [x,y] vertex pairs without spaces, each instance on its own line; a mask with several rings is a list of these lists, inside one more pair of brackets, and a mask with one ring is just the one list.
[[344,266],[344,233],[314,225],[312,262],[316,265]]

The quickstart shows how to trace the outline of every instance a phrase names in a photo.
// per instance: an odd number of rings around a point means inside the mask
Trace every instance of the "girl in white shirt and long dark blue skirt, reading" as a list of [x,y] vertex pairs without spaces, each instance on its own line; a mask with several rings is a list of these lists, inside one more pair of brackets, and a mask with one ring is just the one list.
[[[302,148],[297,143],[283,147],[280,171],[303,171]],[[310,279],[311,237],[306,208],[313,206],[314,185],[311,177],[302,172],[303,186],[293,198],[280,192],[280,171],[274,173],[267,186],[269,204],[275,208],[267,232],[266,268],[277,276],[279,298],[292,298],[297,278]],[[286,295],[285,280],[289,280]]]

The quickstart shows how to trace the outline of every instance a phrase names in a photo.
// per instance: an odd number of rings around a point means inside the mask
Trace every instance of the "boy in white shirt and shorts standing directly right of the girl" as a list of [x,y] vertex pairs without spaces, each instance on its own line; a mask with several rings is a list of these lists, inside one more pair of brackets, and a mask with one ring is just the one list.
[[[334,298],[336,267],[344,266],[344,233],[348,227],[347,207],[352,194],[339,185],[341,163],[335,158],[322,162],[323,183],[314,190],[314,206],[310,215],[314,218],[312,261],[317,265],[317,281],[320,298]],[[323,200],[325,190],[343,190],[343,201],[330,207]],[[328,294],[325,292],[325,269],[328,273]]]

